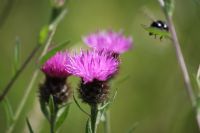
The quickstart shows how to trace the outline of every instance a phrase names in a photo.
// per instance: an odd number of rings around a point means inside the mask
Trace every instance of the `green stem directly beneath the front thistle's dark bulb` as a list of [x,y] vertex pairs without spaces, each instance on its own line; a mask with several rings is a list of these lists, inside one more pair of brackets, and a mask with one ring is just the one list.
[[98,115],[97,104],[91,105],[91,129],[92,129],[92,133],[96,133],[96,130],[97,130],[97,115]]

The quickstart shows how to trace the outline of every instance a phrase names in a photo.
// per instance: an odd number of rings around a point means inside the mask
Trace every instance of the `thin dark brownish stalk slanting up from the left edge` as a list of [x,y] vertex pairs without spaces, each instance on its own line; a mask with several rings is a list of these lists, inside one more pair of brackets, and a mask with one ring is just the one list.
[[15,83],[15,81],[17,80],[17,78],[20,76],[20,74],[23,72],[23,70],[26,68],[26,66],[29,64],[29,62],[32,60],[32,58],[35,56],[35,54],[37,53],[37,51],[40,49],[39,44],[37,44],[35,46],[35,48],[31,51],[31,53],[29,54],[29,56],[26,58],[26,60],[24,61],[24,63],[21,65],[21,67],[17,70],[17,72],[15,73],[15,75],[10,79],[10,81],[8,82],[8,84],[6,85],[6,87],[3,89],[3,92],[0,96],[0,102],[5,98],[5,96],[8,94],[8,92],[10,91],[12,85]]

